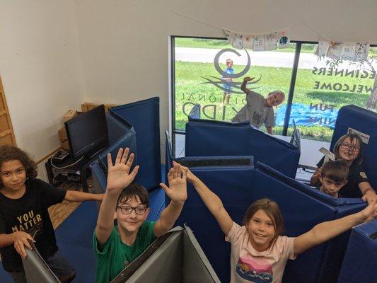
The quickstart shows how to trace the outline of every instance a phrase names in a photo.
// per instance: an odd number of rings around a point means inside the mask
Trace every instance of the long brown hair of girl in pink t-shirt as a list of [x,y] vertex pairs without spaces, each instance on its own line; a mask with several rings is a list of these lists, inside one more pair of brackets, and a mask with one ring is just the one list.
[[274,238],[272,238],[272,241],[270,243],[270,246],[276,241],[277,237],[279,235],[282,235],[284,231],[283,226],[283,216],[282,212],[280,212],[279,204],[274,202],[273,200],[269,200],[267,198],[256,200],[252,204],[250,204],[250,207],[245,213],[245,216],[243,216],[243,225],[247,225],[250,221],[250,219],[253,217],[255,212],[262,209],[267,216],[272,220],[272,223],[274,224],[275,234]]

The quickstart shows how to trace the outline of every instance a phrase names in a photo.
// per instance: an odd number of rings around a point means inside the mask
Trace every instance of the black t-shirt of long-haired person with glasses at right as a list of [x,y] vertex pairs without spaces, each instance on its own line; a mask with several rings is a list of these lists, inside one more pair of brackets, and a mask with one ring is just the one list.
[[[324,158],[322,158],[320,162],[318,162],[318,168],[322,167],[323,159]],[[351,166],[349,166],[347,181],[348,183],[344,185],[344,187],[342,187],[339,191],[342,197],[362,197],[363,194],[359,189],[359,184],[362,182],[369,182],[363,166],[354,162],[352,162]]]

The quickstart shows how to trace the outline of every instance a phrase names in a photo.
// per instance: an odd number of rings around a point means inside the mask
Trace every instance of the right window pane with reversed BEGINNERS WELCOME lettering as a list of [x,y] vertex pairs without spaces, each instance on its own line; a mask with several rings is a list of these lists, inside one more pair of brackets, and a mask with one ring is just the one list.
[[[332,65],[327,57],[318,60],[316,48],[316,44],[302,45],[289,125],[295,120],[305,139],[330,141],[342,106],[367,108],[377,65],[351,61]],[[371,47],[369,55],[373,54],[377,54],[377,47]],[[372,106],[375,109],[376,105]]]

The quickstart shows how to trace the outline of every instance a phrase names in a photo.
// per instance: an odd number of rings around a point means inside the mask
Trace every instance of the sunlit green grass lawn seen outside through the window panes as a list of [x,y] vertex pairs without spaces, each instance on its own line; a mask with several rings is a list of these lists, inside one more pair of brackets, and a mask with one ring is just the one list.
[[[221,68],[225,68],[222,65]],[[235,73],[242,70],[243,67],[234,67]],[[187,115],[192,108],[192,103],[202,105],[202,117],[207,119],[229,121],[240,108],[243,107],[245,94],[233,94],[229,105],[221,105],[223,92],[216,86],[205,83],[206,79],[219,81],[211,76],[219,78],[219,74],[214,65],[211,63],[192,63],[192,62],[175,62],[175,127],[176,129],[185,129]],[[251,67],[248,76],[255,76],[260,79],[258,83],[248,84],[248,88],[256,88],[255,91],[266,96],[267,93],[274,90],[282,90],[288,93],[291,81],[290,68],[276,67]],[[242,78],[235,79],[241,82]],[[300,69],[296,78],[293,103],[302,103],[310,105],[311,103],[323,103],[335,105],[340,108],[343,105],[354,104],[364,107],[369,93],[352,93],[341,91],[324,91],[314,89],[315,81],[320,83],[347,83],[348,85],[366,85],[373,86],[372,79],[357,79],[341,76],[318,76],[313,75],[311,70]],[[239,90],[240,91],[240,90]],[[204,108],[204,109],[203,109]],[[308,139],[321,141],[330,141],[332,129],[322,126],[299,127],[301,136]],[[274,133],[282,133],[282,127],[275,127]]]

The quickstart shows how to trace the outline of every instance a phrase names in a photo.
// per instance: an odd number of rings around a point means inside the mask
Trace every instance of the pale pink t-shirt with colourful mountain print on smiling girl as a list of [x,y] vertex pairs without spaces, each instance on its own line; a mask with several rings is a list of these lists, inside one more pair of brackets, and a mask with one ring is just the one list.
[[294,238],[279,236],[263,252],[257,252],[249,241],[245,226],[233,222],[225,240],[231,243],[231,283],[282,282],[286,260],[294,260]]

